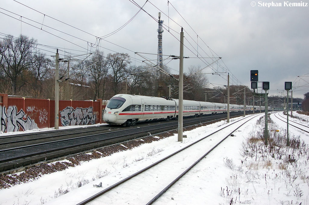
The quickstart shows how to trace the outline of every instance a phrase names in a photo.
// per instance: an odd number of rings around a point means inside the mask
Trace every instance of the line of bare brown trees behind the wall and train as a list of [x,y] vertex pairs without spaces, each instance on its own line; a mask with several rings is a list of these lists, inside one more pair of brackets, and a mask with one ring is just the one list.
[[[8,35],[0,40],[0,93],[54,99],[55,59],[37,45],[36,39],[23,35]],[[115,94],[125,93],[168,97],[169,90],[171,98],[178,98],[179,75],[154,72],[158,70],[155,66],[133,65],[127,53],[105,55],[96,50],[84,60],[74,56],[63,59],[59,62],[60,100],[108,100]],[[163,70],[170,73],[167,67]],[[196,73],[201,73],[199,65],[191,65],[184,73],[184,99],[227,103],[227,87],[210,88],[206,75]],[[230,103],[243,104],[244,90],[246,104],[252,105],[252,90],[238,85],[230,86]],[[277,103],[283,102],[277,96],[274,98]]]

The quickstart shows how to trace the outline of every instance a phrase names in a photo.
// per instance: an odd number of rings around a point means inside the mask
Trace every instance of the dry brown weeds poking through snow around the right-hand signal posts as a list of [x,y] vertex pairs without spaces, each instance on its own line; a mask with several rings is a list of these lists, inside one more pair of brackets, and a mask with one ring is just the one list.
[[[224,159],[224,165],[232,170],[232,174],[226,178],[228,186],[221,188],[220,195],[226,198],[226,204],[252,204],[255,195],[267,196],[269,204],[304,204],[307,202],[303,198],[304,191],[309,188],[308,145],[299,136],[289,133],[290,146],[287,147],[286,130],[282,128],[281,132],[275,132],[278,126],[269,118],[270,132],[265,146],[264,123],[264,117],[260,118],[255,131],[243,142],[241,166],[235,165],[232,159]],[[273,196],[273,190],[281,194],[280,199]],[[289,200],[283,200],[284,197]]]

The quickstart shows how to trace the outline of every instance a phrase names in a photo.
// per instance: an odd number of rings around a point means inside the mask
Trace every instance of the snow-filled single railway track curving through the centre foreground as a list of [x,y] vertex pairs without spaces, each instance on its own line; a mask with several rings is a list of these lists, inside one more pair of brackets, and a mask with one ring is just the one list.
[[[77,204],[152,204],[190,169],[197,165],[199,161],[206,157],[227,137],[231,136],[233,132],[249,120],[260,115],[261,114],[250,115],[235,122],[231,122],[210,135],[207,135],[175,153],[145,167],[144,169],[127,176],[112,186],[103,186],[104,190],[95,193],[91,197]],[[185,171],[183,171],[183,169],[175,169],[175,167],[180,166],[180,164]],[[132,168],[132,170],[133,169],[134,168]],[[138,188],[145,187],[145,184],[150,185],[147,187],[147,190],[141,190]],[[115,201],[115,197],[112,197],[115,195],[117,195],[117,201]],[[134,198],[131,196],[134,196]],[[113,201],[111,201],[111,199]]]

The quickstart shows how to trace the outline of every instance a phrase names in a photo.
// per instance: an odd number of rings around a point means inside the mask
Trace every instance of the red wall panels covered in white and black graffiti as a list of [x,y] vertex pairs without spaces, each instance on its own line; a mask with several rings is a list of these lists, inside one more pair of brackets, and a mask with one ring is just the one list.
[[[6,103],[2,103],[2,100]],[[101,99],[96,102],[60,100],[59,126],[101,123],[101,110]],[[54,116],[54,100],[8,98],[7,94],[0,94],[1,132],[52,128],[55,124]]]

